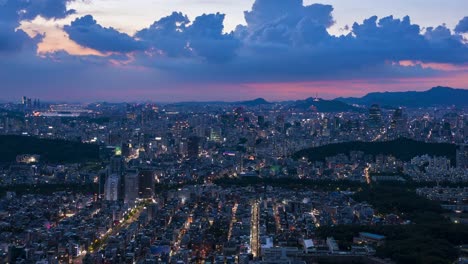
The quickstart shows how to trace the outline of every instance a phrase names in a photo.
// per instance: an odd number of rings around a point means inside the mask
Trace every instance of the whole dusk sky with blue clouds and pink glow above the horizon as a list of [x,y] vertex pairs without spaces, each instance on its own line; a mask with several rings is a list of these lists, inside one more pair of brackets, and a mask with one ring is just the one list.
[[465,0],[0,0],[0,100],[468,88]]

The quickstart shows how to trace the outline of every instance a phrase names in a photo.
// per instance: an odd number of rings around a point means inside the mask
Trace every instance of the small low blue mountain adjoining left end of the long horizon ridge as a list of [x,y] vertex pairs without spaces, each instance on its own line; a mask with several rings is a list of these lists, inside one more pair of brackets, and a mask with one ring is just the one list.
[[347,111],[358,111],[359,109],[351,106],[347,103],[338,100],[323,100],[307,98],[305,100],[294,101],[290,105],[293,109],[299,110],[316,110],[317,112],[347,112]]

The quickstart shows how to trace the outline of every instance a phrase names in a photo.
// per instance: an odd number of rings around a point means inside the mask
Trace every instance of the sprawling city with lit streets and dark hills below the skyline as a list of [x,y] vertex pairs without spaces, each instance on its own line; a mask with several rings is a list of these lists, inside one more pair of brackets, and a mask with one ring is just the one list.
[[391,245],[431,224],[464,261],[466,107],[1,107],[3,263],[430,263]]

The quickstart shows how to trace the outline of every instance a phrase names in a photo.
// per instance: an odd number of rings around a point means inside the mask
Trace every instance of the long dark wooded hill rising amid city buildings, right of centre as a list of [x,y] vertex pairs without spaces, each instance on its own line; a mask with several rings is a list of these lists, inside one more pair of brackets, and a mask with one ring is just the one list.
[[330,144],[316,148],[304,149],[296,152],[293,157],[306,157],[309,161],[324,161],[326,157],[338,154],[348,154],[350,151],[362,151],[371,155],[393,155],[396,158],[409,161],[413,157],[428,154],[431,156],[445,156],[455,164],[456,145],[446,143],[425,143],[406,138],[384,142],[352,141]]

